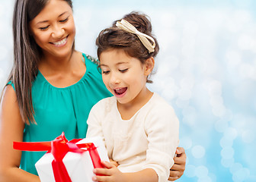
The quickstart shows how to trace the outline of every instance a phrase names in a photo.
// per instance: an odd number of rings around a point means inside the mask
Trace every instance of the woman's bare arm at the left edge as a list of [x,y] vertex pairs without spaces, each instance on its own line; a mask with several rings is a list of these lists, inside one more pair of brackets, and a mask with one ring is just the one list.
[[17,97],[11,85],[6,86],[0,106],[0,182],[40,181],[39,177],[19,168],[21,151],[12,148],[22,141],[24,121],[21,119]]

